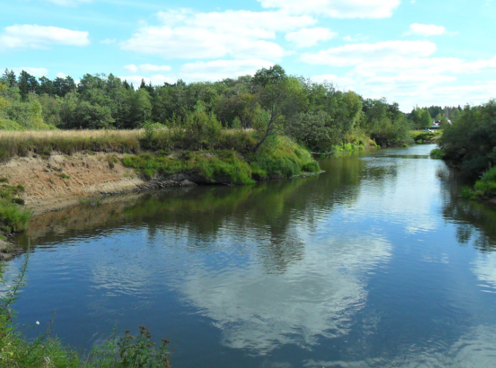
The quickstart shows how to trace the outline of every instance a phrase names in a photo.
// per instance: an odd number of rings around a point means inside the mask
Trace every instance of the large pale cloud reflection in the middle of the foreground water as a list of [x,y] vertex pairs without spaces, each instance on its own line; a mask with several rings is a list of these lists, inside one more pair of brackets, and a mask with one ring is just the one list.
[[256,263],[221,273],[194,269],[179,288],[230,348],[257,355],[287,344],[309,349],[322,336],[347,334],[366,303],[367,271],[390,256],[383,239],[331,238],[307,243],[284,275]]

